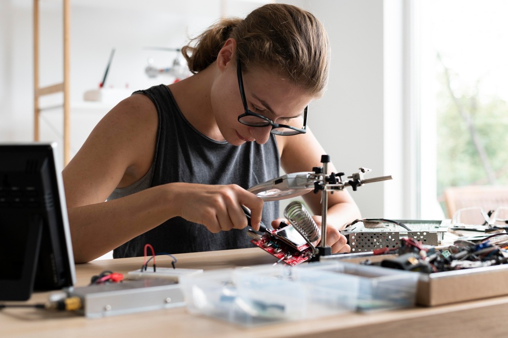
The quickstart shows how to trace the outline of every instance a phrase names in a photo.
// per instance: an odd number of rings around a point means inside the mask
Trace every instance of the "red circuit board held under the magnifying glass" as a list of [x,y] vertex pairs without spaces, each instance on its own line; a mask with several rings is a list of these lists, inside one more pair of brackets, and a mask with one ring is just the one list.
[[[295,249],[268,233],[262,235],[260,240],[252,239],[251,242],[278,260],[282,259],[284,263],[292,266],[306,262],[312,256],[312,249],[309,247],[309,244],[300,245]],[[284,258],[287,254],[290,256]]]

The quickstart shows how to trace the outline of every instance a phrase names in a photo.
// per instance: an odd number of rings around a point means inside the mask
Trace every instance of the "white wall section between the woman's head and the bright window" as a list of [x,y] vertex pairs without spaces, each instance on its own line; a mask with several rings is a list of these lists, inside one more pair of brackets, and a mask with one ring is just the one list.
[[367,167],[366,177],[394,177],[352,192],[363,217],[410,217],[403,203],[402,2],[291,3],[323,22],[332,48],[328,91],[311,106],[310,127],[339,171]]

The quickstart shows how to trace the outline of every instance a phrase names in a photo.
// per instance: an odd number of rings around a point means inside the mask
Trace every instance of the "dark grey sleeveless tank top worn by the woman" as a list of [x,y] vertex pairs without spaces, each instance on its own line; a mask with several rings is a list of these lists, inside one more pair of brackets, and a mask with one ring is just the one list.
[[[153,86],[134,94],[146,95],[157,110],[154,161],[142,179],[130,187],[115,189],[109,199],[171,182],[207,185],[234,183],[247,189],[279,176],[280,159],[274,135],[271,134],[268,142],[263,145],[247,142],[234,146],[227,141],[215,141],[190,125],[166,85]],[[263,223],[269,225],[277,217],[278,202],[266,202],[263,207]],[[214,234],[201,224],[175,217],[120,245],[113,251],[113,257],[143,256],[146,243],[151,244],[156,253],[168,254],[254,246],[247,236],[247,228]]]

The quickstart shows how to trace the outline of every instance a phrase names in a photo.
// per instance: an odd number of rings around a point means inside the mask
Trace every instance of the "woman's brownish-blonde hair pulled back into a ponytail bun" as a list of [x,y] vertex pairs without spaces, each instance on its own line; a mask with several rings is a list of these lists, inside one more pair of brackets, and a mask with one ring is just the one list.
[[222,19],[182,48],[191,72],[215,62],[229,38],[236,41],[242,70],[270,68],[303,87],[315,98],[328,83],[330,43],[317,18],[296,6],[268,4],[245,19]]

